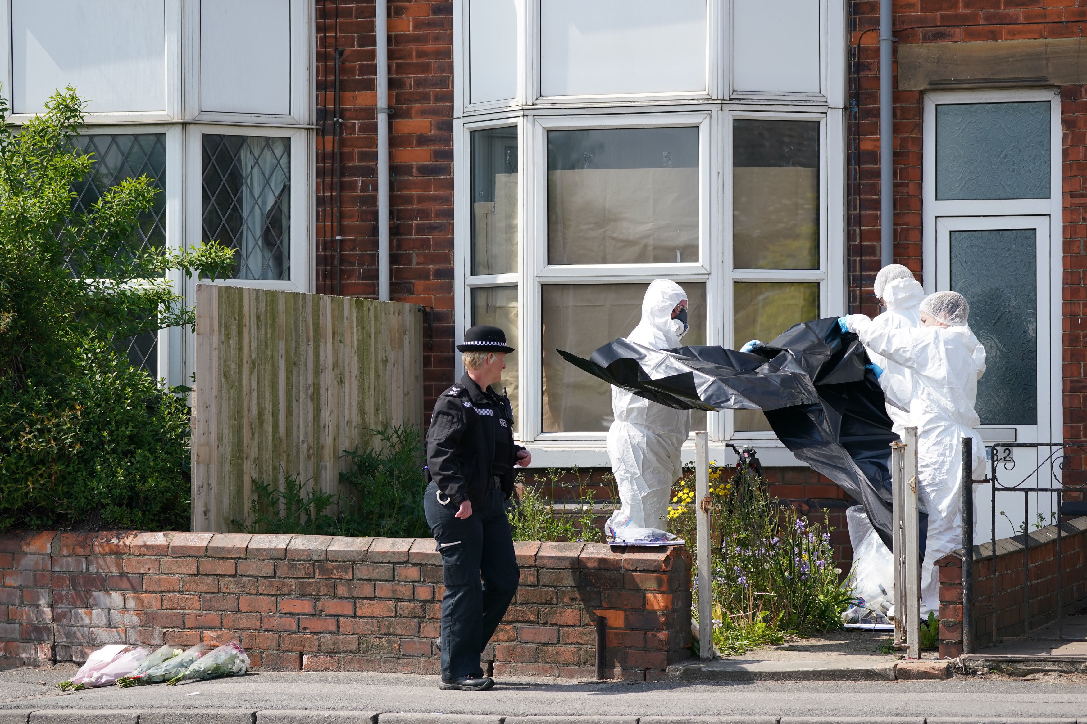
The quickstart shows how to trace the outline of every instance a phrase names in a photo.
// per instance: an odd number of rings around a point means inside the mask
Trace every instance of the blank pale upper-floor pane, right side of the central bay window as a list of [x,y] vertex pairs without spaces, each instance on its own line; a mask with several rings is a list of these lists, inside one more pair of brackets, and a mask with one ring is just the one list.
[[820,92],[817,0],[734,0],[733,90]]

